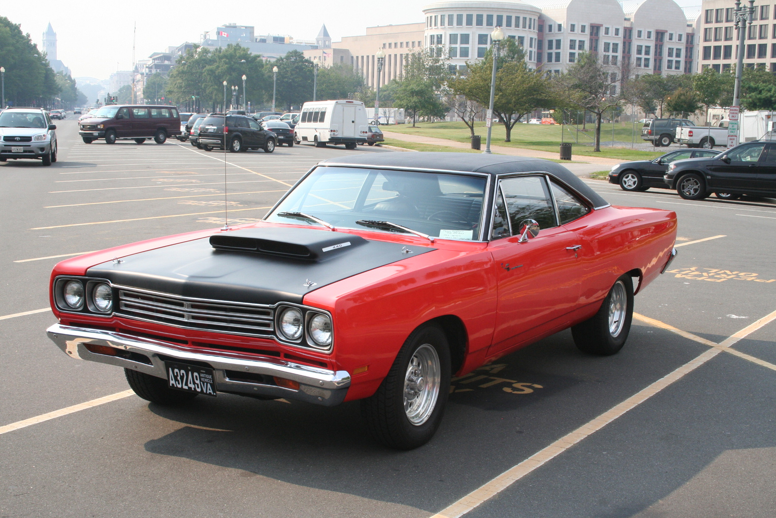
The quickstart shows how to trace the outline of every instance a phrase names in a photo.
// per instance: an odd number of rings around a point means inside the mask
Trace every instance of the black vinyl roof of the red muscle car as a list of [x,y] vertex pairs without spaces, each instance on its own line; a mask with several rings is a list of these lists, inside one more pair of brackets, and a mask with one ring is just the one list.
[[594,207],[604,207],[609,203],[587,186],[573,172],[556,162],[507,155],[485,155],[484,153],[431,153],[394,151],[388,153],[369,153],[369,155],[351,155],[329,158],[319,165],[374,165],[381,168],[399,167],[402,169],[433,169],[443,171],[479,172],[493,176],[513,172],[548,172],[561,182],[576,190]]

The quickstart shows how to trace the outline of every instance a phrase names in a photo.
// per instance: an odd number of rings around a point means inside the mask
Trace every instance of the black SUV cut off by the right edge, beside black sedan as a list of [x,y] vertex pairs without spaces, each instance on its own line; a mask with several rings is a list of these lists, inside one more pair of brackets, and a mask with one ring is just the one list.
[[663,178],[685,200],[711,193],[725,200],[742,194],[776,197],[776,141],[745,142],[714,158],[674,162]]

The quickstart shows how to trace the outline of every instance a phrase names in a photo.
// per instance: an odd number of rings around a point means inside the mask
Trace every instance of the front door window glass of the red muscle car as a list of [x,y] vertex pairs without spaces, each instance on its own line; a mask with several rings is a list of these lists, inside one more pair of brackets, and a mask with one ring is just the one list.
[[511,228],[517,231],[525,219],[539,223],[539,228],[557,227],[553,198],[542,176],[517,176],[501,180]]

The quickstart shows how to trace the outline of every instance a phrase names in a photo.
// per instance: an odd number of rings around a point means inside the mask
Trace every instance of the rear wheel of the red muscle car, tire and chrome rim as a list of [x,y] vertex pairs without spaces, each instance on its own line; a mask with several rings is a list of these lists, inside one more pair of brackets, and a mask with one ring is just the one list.
[[598,313],[571,328],[574,343],[583,353],[615,354],[628,339],[632,318],[633,282],[630,276],[623,275],[609,290]]

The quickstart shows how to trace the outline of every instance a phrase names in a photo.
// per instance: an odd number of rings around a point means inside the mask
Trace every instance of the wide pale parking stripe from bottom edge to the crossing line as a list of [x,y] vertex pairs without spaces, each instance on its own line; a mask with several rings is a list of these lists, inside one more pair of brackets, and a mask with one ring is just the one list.
[[670,372],[670,374],[661,377],[653,384],[650,384],[648,387],[632,395],[630,398],[625,399],[624,402],[615,405],[607,412],[604,412],[603,414],[598,415],[598,417],[595,419],[586,422],[584,425],[575,429],[573,432],[566,433],[565,436],[561,437],[559,440],[556,440],[548,447],[539,450],[531,457],[525,459],[525,461],[522,461],[507,471],[504,471],[504,473],[501,475],[498,475],[496,478],[488,481],[487,484],[480,486],[480,488],[476,488],[473,492],[470,492],[462,499],[459,499],[457,502],[453,503],[452,506],[448,506],[447,508],[442,509],[442,511],[436,513],[434,516],[431,516],[431,518],[458,518],[459,516],[463,516],[464,514],[469,513],[469,511],[476,508],[477,506],[480,506],[480,504],[483,502],[486,502],[488,499],[508,488],[510,485],[514,484],[514,482],[525,477],[525,475],[528,475],[536,468],[546,464],[548,461],[551,461],[559,454],[562,454],[564,451],[568,450],[574,444],[584,440],[588,436],[591,436],[593,433],[598,432],[599,429],[608,425],[608,423],[618,419],[624,415],[625,412],[628,412],[632,408],[636,408],[636,406],[662,391],[663,388],[673,384],[674,381],[680,380],[682,377],[702,366],[708,360],[711,360],[714,356],[721,352],[722,349],[708,349],[708,351],[705,351],[701,355],[696,356],[693,360],[690,360],[688,363],[684,363],[684,365],[681,367],[673,370]]

